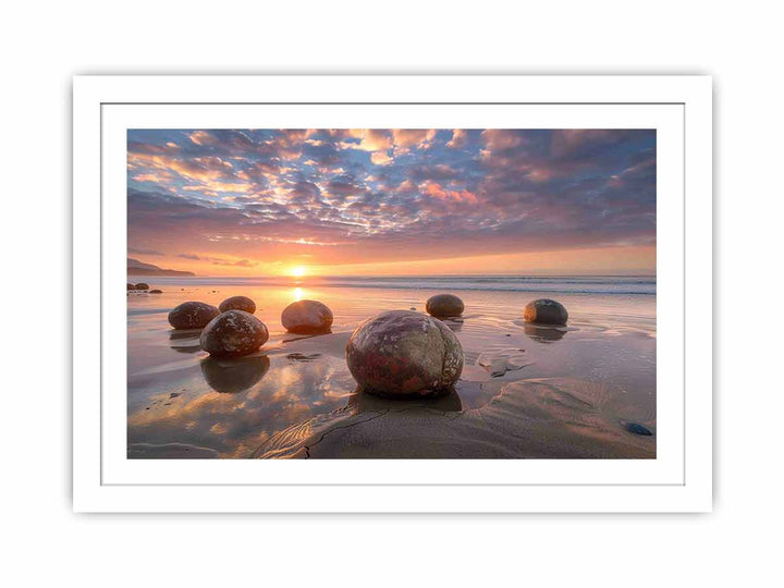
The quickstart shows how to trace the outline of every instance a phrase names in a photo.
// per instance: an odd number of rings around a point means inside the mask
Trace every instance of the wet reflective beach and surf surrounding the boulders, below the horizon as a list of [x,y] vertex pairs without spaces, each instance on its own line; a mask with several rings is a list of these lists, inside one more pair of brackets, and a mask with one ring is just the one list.
[[[656,457],[656,278],[128,280],[162,291],[127,295],[130,458]],[[443,292],[465,303],[445,321],[464,351],[454,391],[406,401],[357,390],[345,362],[357,326],[424,313]],[[235,295],[256,302],[270,335],[245,357],[210,357],[198,330],[167,320],[185,301]],[[540,297],[568,309],[566,326],[524,322]],[[287,333],[281,311],[297,299],[329,306],[331,333]]]

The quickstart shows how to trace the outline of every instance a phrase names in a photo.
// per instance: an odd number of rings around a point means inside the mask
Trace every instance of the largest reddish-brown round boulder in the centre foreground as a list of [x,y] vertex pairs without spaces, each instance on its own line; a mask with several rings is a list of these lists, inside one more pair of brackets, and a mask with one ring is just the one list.
[[346,363],[368,392],[390,396],[444,393],[463,371],[463,347],[440,320],[390,310],[354,331],[346,345]]

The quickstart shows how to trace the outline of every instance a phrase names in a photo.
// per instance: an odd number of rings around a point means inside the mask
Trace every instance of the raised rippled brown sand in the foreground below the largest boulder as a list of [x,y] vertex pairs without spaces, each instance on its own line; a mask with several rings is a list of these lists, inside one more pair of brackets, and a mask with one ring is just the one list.
[[[586,380],[522,380],[468,411],[442,412],[416,401],[336,411],[272,436],[254,457],[656,457],[653,436],[633,434],[620,426],[616,403],[617,394]],[[623,404],[621,408],[626,409]]]

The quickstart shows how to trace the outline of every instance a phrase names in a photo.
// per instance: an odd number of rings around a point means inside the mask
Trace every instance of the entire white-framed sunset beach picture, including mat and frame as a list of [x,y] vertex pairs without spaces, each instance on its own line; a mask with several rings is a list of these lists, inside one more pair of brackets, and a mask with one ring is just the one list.
[[711,124],[702,76],[76,77],[74,509],[709,511]]

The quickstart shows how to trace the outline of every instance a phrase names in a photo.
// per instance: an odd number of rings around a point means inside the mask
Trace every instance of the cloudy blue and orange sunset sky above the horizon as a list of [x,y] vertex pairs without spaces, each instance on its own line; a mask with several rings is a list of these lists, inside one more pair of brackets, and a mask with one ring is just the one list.
[[654,130],[128,130],[128,257],[200,275],[653,274]]

